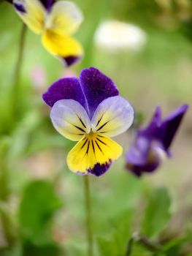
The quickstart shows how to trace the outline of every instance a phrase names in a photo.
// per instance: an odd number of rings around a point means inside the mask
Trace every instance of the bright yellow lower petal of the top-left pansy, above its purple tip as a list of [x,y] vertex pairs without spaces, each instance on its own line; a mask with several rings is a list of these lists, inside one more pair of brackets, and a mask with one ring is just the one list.
[[79,42],[66,34],[59,34],[53,30],[46,30],[42,35],[42,44],[55,56],[66,58],[82,56],[82,47]]

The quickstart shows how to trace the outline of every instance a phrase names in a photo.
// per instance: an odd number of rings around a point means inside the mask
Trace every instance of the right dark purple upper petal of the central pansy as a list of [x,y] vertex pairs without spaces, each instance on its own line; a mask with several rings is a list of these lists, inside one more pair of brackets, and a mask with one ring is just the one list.
[[80,83],[87,99],[89,116],[92,117],[99,103],[119,94],[115,83],[98,69],[90,67],[80,73]]

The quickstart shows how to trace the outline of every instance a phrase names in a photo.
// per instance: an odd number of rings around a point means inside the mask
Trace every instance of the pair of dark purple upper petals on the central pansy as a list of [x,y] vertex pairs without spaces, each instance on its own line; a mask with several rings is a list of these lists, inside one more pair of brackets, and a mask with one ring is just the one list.
[[50,107],[60,99],[74,99],[87,110],[92,118],[93,113],[104,99],[119,94],[115,83],[98,69],[83,69],[78,78],[63,78],[43,94],[42,98]]

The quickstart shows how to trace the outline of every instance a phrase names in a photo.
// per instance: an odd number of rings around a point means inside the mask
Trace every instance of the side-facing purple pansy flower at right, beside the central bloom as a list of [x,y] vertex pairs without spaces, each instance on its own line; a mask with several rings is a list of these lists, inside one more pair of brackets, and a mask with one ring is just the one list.
[[169,148],[187,110],[188,105],[182,105],[162,120],[161,108],[156,108],[150,124],[139,129],[133,146],[126,154],[128,170],[137,176],[151,173],[161,165],[164,156],[171,157]]

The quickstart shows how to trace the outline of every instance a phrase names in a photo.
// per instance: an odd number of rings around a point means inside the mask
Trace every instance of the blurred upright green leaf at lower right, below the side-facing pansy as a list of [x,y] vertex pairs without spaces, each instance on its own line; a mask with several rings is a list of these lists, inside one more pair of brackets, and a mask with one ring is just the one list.
[[148,237],[157,235],[164,229],[170,219],[171,200],[166,188],[156,189],[150,195],[142,222],[142,233]]

